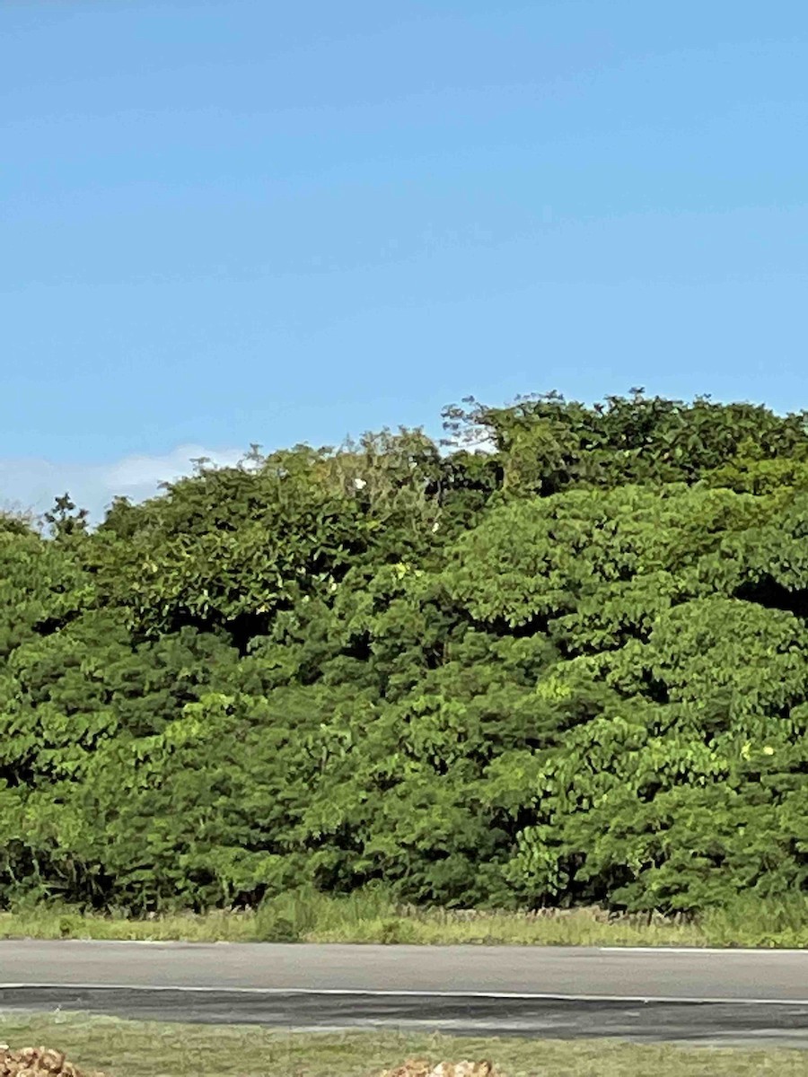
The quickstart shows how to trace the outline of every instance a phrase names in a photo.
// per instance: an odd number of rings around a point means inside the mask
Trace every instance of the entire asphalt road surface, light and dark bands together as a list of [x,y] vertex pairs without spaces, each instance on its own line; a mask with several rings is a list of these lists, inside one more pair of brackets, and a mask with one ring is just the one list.
[[808,1048],[808,951],[0,941],[11,1010]]

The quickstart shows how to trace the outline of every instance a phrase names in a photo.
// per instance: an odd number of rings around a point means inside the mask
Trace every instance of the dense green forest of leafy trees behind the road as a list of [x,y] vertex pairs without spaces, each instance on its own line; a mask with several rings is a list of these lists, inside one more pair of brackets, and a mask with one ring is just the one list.
[[0,905],[806,889],[808,415],[444,428],[0,519]]

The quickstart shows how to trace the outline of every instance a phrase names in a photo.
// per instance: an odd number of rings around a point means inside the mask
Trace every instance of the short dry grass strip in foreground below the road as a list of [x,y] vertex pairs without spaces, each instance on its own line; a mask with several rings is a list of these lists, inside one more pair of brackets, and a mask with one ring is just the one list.
[[110,1077],[370,1077],[406,1059],[490,1060],[501,1077],[806,1077],[808,1052],[396,1033],[287,1034],[236,1025],[3,1016],[12,1048],[54,1047]]

